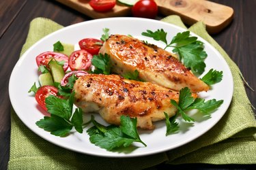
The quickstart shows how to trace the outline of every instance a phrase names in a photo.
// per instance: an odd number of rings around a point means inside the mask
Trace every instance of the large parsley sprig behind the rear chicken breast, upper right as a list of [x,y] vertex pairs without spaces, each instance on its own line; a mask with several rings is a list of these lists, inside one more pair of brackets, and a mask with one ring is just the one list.
[[203,42],[198,41],[197,37],[190,36],[190,31],[177,33],[169,44],[167,42],[167,32],[163,29],[158,29],[154,32],[147,30],[147,32],[143,32],[141,35],[164,42],[166,44],[164,49],[172,47],[173,52],[179,54],[180,61],[194,73],[200,75],[205,70],[204,59],[207,57],[207,54],[203,50]]

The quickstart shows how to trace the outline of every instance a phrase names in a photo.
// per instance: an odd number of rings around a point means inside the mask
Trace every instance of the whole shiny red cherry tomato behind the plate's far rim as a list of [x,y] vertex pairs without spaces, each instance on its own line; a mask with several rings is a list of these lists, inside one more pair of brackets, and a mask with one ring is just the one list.
[[158,6],[154,0],[140,0],[132,7],[132,15],[141,18],[156,18]]

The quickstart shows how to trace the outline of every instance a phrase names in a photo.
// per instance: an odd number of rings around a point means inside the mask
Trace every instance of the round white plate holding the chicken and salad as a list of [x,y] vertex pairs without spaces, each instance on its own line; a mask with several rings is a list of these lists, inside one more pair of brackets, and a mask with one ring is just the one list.
[[[34,44],[23,56],[20,58],[16,66],[12,71],[9,84],[10,100],[14,110],[20,120],[31,129],[34,133],[40,137],[55,143],[57,146],[73,150],[75,152],[81,152],[85,154],[91,154],[96,156],[109,156],[109,157],[132,157],[132,156],[145,156],[148,154],[155,154],[158,152],[164,152],[182,146],[189,141],[196,139],[203,135],[206,131],[212,128],[225,114],[229,103],[231,102],[233,94],[233,78],[231,71],[223,59],[223,56],[219,54],[207,41],[199,37],[200,41],[205,44],[205,51],[208,54],[206,58],[205,73],[213,68],[218,71],[223,71],[223,80],[212,86],[212,90],[209,92],[201,92],[199,95],[204,99],[216,99],[224,100],[224,103],[219,107],[216,112],[212,113],[211,118],[202,117],[201,114],[192,115],[195,118],[195,124],[187,122],[180,122],[180,132],[174,135],[165,136],[165,121],[155,123],[156,129],[154,131],[139,131],[142,141],[147,144],[147,147],[143,147],[140,143],[134,143],[134,146],[138,146],[134,150],[123,150],[124,152],[108,152],[102,148],[98,148],[90,143],[89,137],[85,132],[72,133],[68,137],[55,137],[50,133],[40,129],[35,125],[35,122],[43,118],[42,110],[38,107],[33,95],[27,91],[34,82],[38,82],[38,66],[35,63],[35,56],[41,52],[45,52],[53,49],[53,44],[56,41],[62,41],[70,44],[77,44],[80,39],[85,37],[100,38],[102,35],[102,29],[109,28],[111,34],[119,33],[124,35],[132,35],[139,39],[144,39],[150,43],[154,43],[160,47],[159,41],[154,41],[151,38],[141,35],[147,29],[156,31],[157,29],[164,29],[167,31],[168,40],[177,33],[186,31],[173,24],[160,22],[158,20],[149,20],[143,18],[105,18],[99,20],[91,20],[87,22],[81,22],[79,24],[71,25],[55,33],[51,33]],[[194,35],[193,33],[191,33]],[[197,35],[194,35],[197,36]],[[171,50],[171,49],[169,49]],[[96,116],[96,120],[104,122],[100,116]]]

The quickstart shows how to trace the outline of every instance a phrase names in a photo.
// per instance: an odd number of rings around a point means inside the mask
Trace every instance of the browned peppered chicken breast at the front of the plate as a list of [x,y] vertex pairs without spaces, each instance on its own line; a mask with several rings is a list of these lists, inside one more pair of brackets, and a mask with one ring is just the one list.
[[137,118],[142,129],[154,129],[152,122],[165,119],[164,112],[173,116],[176,108],[170,100],[179,99],[178,92],[119,75],[85,75],[76,80],[73,89],[74,103],[83,112],[98,112],[106,122],[117,125],[122,115]]

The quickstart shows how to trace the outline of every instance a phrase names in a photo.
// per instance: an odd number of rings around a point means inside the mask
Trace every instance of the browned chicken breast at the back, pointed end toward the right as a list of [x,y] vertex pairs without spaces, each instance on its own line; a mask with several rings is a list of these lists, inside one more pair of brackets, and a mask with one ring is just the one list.
[[124,75],[139,71],[139,78],[172,90],[184,87],[192,92],[209,90],[209,86],[197,78],[170,52],[126,35],[111,35],[100,53],[109,54],[113,71]]

